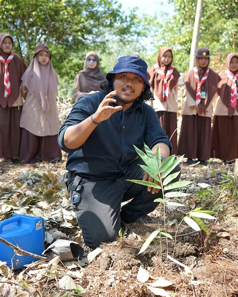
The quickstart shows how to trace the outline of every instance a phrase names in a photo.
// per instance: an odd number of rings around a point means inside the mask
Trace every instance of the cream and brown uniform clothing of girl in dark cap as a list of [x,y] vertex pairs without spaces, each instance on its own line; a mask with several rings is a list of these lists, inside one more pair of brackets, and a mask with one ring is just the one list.
[[[206,69],[200,69],[198,58],[196,59],[198,71],[202,72],[200,79]],[[211,151],[211,116],[212,102],[217,96],[218,75],[209,69],[209,75],[204,82],[206,91],[205,100],[201,100],[198,107],[202,112],[196,110],[197,81],[194,78],[194,69],[188,71],[184,76],[186,89],[186,100],[182,109],[182,125],[178,141],[178,155],[185,155],[188,159],[206,161],[210,158]]]

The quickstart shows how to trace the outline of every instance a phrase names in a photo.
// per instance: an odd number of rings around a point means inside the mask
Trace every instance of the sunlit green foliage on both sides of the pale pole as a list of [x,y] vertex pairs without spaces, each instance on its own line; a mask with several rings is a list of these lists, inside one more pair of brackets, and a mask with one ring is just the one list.
[[[173,64],[180,72],[187,72],[196,2],[193,0],[170,0],[169,2],[174,4],[175,14],[164,19],[159,25],[158,20],[154,22],[155,29],[152,35],[158,36],[154,39],[156,48],[154,63],[159,48],[165,45],[171,46],[174,53]],[[232,52],[232,32],[237,36],[236,11],[236,3],[232,0],[204,0],[198,47],[209,48],[212,55],[210,66],[215,71],[223,70],[225,56]]]

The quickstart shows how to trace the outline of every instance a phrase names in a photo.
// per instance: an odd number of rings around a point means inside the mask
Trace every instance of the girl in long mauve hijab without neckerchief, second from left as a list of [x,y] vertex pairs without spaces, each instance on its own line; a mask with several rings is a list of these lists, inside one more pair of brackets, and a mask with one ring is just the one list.
[[23,163],[61,159],[57,143],[58,78],[50,59],[47,46],[37,46],[34,58],[22,77],[22,95],[26,100],[20,121],[20,160]]

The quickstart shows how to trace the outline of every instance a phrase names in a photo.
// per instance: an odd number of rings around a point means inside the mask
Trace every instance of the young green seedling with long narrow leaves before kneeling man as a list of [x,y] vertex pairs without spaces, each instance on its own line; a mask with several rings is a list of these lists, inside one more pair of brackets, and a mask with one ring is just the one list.
[[[141,151],[137,146],[134,145],[134,147],[137,154],[141,157],[141,159],[145,163],[145,165],[140,165],[140,167],[145,172],[147,172],[154,180],[159,182],[159,184],[148,182],[148,181],[141,181],[141,180],[128,180],[128,181],[132,183],[140,184],[146,187],[151,187],[151,188],[156,188],[161,190],[162,198],[157,198],[154,201],[160,202],[163,204],[163,207],[164,207],[163,219],[164,219],[164,229],[165,229],[165,231],[161,231],[160,225],[158,225],[159,230],[155,230],[151,233],[151,235],[144,242],[138,254],[143,253],[148,248],[150,243],[158,236],[160,240],[161,258],[162,258],[162,245],[161,245],[162,236],[165,236],[166,240],[168,240],[168,238],[173,240],[173,237],[171,236],[171,234],[166,232],[166,217],[165,217],[166,206],[172,206],[172,207],[184,206],[184,204],[177,203],[177,202],[170,202],[168,200],[174,197],[184,197],[189,195],[181,191],[171,191],[171,190],[186,187],[192,182],[190,181],[173,182],[173,180],[180,175],[181,170],[175,173],[172,173],[172,171],[177,167],[177,165],[179,165],[183,161],[184,155],[177,159],[175,159],[175,155],[171,155],[170,157],[166,158],[166,160],[161,164],[161,154],[160,154],[159,146],[157,147],[156,155],[153,154],[153,152],[146,144],[144,144],[145,153]],[[200,231],[202,229],[206,233],[209,233],[208,228],[203,223],[201,218],[215,220],[216,218],[212,216],[213,214],[215,214],[215,212],[213,211],[201,210],[201,208],[196,208],[188,212],[182,221],[186,222],[195,231]],[[180,222],[180,224],[182,223],[182,221]],[[167,247],[168,247],[168,244],[167,244]],[[168,253],[168,249],[167,249],[167,253]]]

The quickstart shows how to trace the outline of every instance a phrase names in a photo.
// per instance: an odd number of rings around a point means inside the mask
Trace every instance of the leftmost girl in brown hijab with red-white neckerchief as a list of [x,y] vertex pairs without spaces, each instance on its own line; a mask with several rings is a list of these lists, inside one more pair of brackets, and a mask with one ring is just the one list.
[[11,35],[0,34],[0,158],[6,159],[19,158],[20,85],[27,69],[23,59],[12,52],[13,45]]

